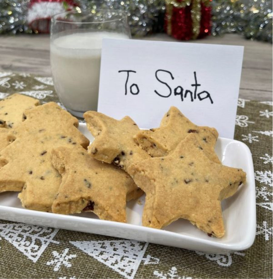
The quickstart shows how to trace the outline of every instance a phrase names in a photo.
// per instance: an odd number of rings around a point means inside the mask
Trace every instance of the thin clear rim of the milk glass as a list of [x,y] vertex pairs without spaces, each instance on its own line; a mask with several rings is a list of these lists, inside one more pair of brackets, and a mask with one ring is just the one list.
[[[121,18],[118,19],[109,19],[109,20],[105,20],[105,21],[93,21],[93,22],[76,22],[76,21],[65,21],[63,19],[58,19],[57,17],[60,15],[67,15],[67,14],[83,14],[83,13],[88,13],[92,15],[92,11],[103,11],[103,12],[118,12],[120,14],[122,14]],[[126,14],[125,11],[122,10],[115,10],[115,9],[88,9],[88,10],[84,10],[84,11],[65,11],[65,12],[60,12],[58,14],[55,14],[52,16],[51,21],[52,22],[63,22],[63,23],[69,23],[69,24],[96,24],[96,23],[100,23],[100,22],[111,22],[111,21],[118,21],[118,20],[122,20],[122,19],[126,19],[127,20],[128,16]]]

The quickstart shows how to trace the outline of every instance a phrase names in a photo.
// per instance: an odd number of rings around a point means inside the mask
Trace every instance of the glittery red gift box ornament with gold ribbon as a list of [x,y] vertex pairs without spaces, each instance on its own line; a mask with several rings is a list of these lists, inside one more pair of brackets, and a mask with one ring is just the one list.
[[165,0],[165,32],[178,40],[204,37],[211,31],[211,0]]

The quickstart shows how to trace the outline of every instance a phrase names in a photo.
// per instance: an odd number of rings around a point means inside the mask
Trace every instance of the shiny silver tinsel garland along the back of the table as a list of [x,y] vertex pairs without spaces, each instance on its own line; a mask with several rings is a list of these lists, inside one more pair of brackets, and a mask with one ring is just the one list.
[[[30,0],[0,0],[0,34],[33,32],[27,24]],[[162,32],[164,0],[75,0],[81,9],[121,8],[128,14],[133,36]],[[213,0],[211,34],[243,34],[272,42],[272,0]]]

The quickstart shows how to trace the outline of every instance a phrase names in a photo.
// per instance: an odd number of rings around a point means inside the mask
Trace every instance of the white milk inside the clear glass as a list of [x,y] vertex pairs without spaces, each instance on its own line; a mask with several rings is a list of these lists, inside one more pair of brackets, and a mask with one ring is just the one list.
[[50,46],[55,89],[65,107],[77,116],[97,110],[102,38],[128,39],[112,32],[75,33],[58,37]]

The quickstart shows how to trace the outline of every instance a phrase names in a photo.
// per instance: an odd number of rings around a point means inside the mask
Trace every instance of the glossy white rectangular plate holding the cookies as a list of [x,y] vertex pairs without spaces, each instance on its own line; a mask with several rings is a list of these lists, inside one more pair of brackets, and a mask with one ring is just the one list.
[[[90,141],[93,140],[85,124],[81,123],[79,129]],[[0,219],[210,253],[244,250],[253,244],[256,231],[255,178],[251,152],[244,143],[226,138],[218,138],[215,151],[224,165],[242,168],[247,174],[247,183],[234,196],[222,201],[226,230],[223,238],[209,237],[183,219],[161,230],[142,226],[145,196],[127,204],[128,223],[125,224],[100,220],[90,212],[68,216],[24,209],[17,198],[18,193],[5,192],[0,193]]]

